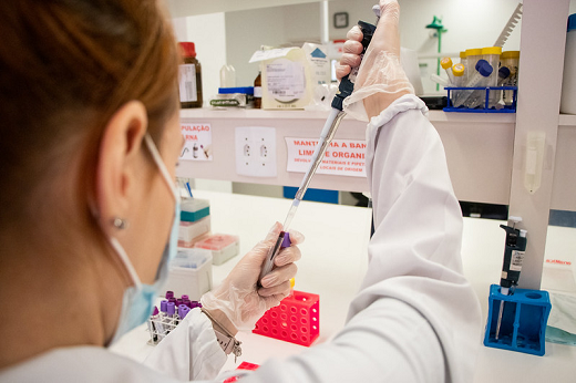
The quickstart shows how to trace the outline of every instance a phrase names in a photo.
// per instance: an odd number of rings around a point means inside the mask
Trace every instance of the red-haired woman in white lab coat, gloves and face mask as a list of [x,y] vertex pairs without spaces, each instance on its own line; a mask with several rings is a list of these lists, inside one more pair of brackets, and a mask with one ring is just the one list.
[[[380,7],[347,102],[371,118],[369,271],[332,341],[246,381],[472,379],[480,309],[462,276],[460,208],[398,60],[398,3]],[[0,381],[216,379],[227,356],[215,329],[234,335],[287,294],[302,238],[291,234],[258,289],[275,225],[147,366],[105,349],[150,314],[174,250],[178,54],[156,1],[2,2],[0,35]],[[349,32],[340,76],[359,63],[360,37]]]

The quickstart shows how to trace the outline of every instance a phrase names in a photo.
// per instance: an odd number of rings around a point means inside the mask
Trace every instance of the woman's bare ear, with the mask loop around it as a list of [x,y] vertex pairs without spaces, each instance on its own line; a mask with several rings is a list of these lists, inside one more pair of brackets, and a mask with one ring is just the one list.
[[128,218],[130,195],[137,183],[143,137],[147,130],[146,108],[140,101],[124,104],[107,122],[96,162],[96,208],[105,231],[114,218]]

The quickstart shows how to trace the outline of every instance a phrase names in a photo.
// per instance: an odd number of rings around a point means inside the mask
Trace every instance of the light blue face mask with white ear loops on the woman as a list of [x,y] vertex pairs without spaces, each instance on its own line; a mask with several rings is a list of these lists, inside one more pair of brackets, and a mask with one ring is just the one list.
[[166,244],[164,253],[162,255],[162,259],[158,265],[158,270],[156,272],[156,281],[154,282],[154,284],[145,284],[141,282],[136,273],[136,270],[132,266],[130,258],[124,251],[124,248],[115,238],[109,238],[110,244],[119,255],[121,261],[126,267],[126,270],[128,271],[130,276],[132,277],[132,281],[134,282],[134,286],[128,287],[124,291],[119,324],[116,327],[114,337],[112,337],[112,341],[109,343],[109,345],[116,342],[123,334],[125,334],[130,330],[144,323],[147,320],[147,318],[152,314],[154,301],[160,296],[162,288],[164,287],[168,277],[168,263],[172,259],[174,259],[177,252],[178,226],[181,214],[179,196],[174,186],[174,182],[171,180],[169,173],[166,169],[166,166],[164,165],[162,157],[160,156],[156,145],[154,145],[154,142],[152,141],[148,134],[144,136],[144,142],[146,143],[148,151],[152,154],[152,157],[154,158],[154,162],[156,163],[156,166],[160,169],[160,173],[166,182],[166,185],[168,186],[171,193],[174,196],[174,222],[172,224],[172,231],[168,238],[168,242]]

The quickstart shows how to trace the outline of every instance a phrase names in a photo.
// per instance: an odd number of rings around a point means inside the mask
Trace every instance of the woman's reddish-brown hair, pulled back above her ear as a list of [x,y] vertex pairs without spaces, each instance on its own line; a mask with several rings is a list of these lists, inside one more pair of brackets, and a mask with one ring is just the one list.
[[0,228],[30,218],[39,188],[82,149],[85,201],[103,130],[126,102],[144,104],[156,143],[177,111],[179,55],[156,0],[1,1],[0,39]]

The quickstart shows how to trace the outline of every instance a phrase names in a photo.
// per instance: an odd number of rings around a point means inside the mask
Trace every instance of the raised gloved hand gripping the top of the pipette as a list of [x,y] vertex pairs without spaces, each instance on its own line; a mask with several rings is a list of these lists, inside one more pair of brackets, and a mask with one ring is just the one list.
[[357,120],[368,121],[402,95],[414,93],[400,63],[399,20],[398,1],[380,0],[380,21],[363,58],[360,28],[348,31],[336,75],[341,80],[361,61],[354,92],[343,103],[344,111]]

